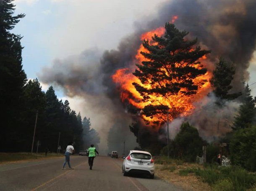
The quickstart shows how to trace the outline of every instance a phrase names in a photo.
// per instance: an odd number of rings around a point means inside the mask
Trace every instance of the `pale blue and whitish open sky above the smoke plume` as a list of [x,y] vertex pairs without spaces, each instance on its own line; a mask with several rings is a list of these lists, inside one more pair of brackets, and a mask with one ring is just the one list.
[[[15,0],[16,13],[26,14],[14,33],[24,36],[22,56],[28,78],[36,78],[54,59],[90,47],[116,48],[133,31],[136,20],[154,13],[164,1]],[[64,96],[58,89],[57,95]]]

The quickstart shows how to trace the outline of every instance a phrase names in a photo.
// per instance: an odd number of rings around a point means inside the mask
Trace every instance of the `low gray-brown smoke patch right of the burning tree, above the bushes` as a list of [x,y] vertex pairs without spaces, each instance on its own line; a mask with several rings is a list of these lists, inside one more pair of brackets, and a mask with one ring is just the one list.
[[[189,123],[199,129],[200,136],[208,142],[218,140],[230,132],[232,121],[237,114],[241,103],[239,101],[225,101],[223,105],[215,104],[217,98],[213,93],[204,97],[203,100],[194,103],[195,111],[186,117],[177,118],[169,124],[170,137],[174,139],[180,130],[180,125]],[[203,109],[202,109],[203,108]],[[166,131],[166,126],[163,127]]]

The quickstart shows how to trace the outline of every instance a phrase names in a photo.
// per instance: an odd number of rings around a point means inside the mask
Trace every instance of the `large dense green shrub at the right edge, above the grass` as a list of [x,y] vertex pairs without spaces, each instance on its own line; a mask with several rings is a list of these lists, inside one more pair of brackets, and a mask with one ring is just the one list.
[[232,135],[230,142],[230,159],[233,165],[240,165],[256,171],[256,126],[239,129]]

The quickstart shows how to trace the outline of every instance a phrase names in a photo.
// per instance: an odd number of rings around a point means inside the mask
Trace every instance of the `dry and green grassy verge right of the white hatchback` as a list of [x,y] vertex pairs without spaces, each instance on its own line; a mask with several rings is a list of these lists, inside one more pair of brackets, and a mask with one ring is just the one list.
[[238,166],[199,165],[167,157],[156,157],[156,175],[184,190],[256,191],[256,173]]

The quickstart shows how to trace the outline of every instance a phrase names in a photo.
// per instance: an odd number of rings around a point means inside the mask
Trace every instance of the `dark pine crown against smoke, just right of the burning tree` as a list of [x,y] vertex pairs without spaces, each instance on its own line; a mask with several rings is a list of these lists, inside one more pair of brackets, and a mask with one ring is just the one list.
[[210,80],[213,92],[220,99],[233,100],[238,98],[241,93],[229,93],[232,88],[231,82],[235,75],[235,67],[220,58],[213,71],[213,77]]

